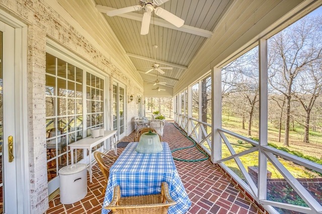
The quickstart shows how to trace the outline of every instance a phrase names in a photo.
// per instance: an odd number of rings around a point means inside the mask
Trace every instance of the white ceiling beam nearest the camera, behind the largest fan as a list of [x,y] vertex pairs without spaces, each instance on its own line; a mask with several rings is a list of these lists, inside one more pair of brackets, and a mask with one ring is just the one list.
[[[110,7],[106,7],[106,6],[102,6],[102,5],[96,5],[96,8],[101,13],[106,13],[106,12],[109,12],[109,11],[116,10],[115,8],[110,8]],[[141,22],[143,16],[141,14],[137,14],[137,13],[126,13],[126,14],[119,15],[119,17],[123,17],[123,18],[126,18],[126,19],[131,19],[131,20],[136,20],[136,21]],[[151,19],[150,23],[154,24],[154,25],[157,25],[157,26],[170,28],[170,29],[174,29],[174,30],[177,30],[177,31],[182,31],[182,32],[186,32],[186,33],[189,33],[189,34],[194,34],[194,35],[201,36],[201,37],[210,38],[212,36],[211,31],[191,27],[191,26],[188,26],[188,25],[183,25],[181,28],[177,28],[176,26],[170,24],[169,22],[167,22],[167,21],[165,21],[163,19],[154,18],[154,22]]]

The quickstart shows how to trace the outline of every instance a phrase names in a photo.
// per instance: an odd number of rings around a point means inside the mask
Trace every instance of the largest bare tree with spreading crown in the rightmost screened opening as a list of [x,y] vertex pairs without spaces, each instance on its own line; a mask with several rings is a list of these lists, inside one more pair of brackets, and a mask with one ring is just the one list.
[[284,145],[289,146],[291,98],[299,73],[321,58],[321,17],[304,17],[269,39],[269,84],[285,96]]

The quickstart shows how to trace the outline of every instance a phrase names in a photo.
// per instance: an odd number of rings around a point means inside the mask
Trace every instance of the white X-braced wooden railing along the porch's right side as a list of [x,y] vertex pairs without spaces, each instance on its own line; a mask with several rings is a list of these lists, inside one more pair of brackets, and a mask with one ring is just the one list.
[[[209,155],[212,155],[211,132],[208,132],[208,130],[211,130],[211,125],[180,115],[177,115],[175,121],[181,128],[184,126],[185,130],[188,130],[186,119],[191,124],[191,131],[190,133],[187,132],[188,136],[199,144]],[[285,212],[284,210],[294,211],[288,211],[288,213],[322,213],[322,179],[295,178],[284,164],[285,162],[293,163],[322,175],[321,165],[270,146],[260,146],[258,142],[250,138],[225,129],[218,129],[217,131],[222,139],[222,154],[225,152],[225,157],[217,161],[218,165],[269,213],[281,213]],[[228,138],[238,139],[237,142],[242,142],[243,144],[232,144]],[[244,148],[244,150],[236,151],[237,147]],[[261,158],[261,154],[265,155],[266,158]],[[247,166],[248,162],[243,160],[243,157],[246,156],[251,156],[252,159],[256,159],[257,166]],[[268,162],[282,178],[271,179],[268,176],[268,171],[263,172],[263,170],[260,170],[261,167],[266,168]],[[255,176],[251,172],[256,172]],[[267,175],[263,176],[262,174],[262,176],[259,176],[261,172],[267,173]],[[263,177],[266,179],[259,179]],[[312,182],[316,180],[317,182]],[[304,186],[307,183],[308,185]],[[280,184],[280,186],[277,184]],[[279,189],[279,187],[281,188]]]

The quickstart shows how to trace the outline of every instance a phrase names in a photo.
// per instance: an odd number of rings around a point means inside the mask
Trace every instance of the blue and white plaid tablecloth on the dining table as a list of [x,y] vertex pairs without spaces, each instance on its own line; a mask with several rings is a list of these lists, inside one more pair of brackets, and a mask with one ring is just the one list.
[[[110,168],[103,207],[111,202],[116,185],[120,185],[121,196],[126,197],[158,194],[161,183],[166,181],[172,199],[177,201],[176,205],[169,207],[168,213],[185,213],[191,201],[179,177],[169,145],[162,142],[162,152],[142,154],[135,151],[137,144],[129,143]],[[108,212],[108,209],[102,209],[102,214]]]

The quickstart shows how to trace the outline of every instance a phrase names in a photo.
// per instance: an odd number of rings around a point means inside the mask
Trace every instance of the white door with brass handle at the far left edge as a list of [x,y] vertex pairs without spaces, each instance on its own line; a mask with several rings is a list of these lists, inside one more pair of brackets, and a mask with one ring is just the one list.
[[15,29],[0,22],[0,213],[18,212],[14,59]]

